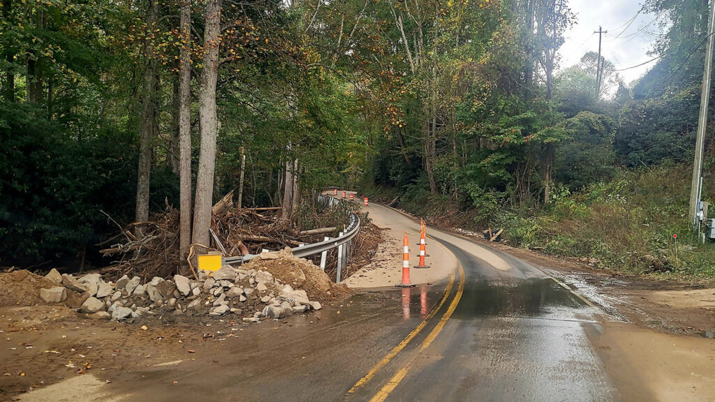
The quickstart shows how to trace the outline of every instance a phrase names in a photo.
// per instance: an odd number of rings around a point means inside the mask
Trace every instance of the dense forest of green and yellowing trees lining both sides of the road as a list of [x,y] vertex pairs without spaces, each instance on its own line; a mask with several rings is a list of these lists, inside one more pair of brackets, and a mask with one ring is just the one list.
[[661,35],[631,83],[594,52],[560,65],[566,0],[1,6],[0,265],[101,265],[114,221],[167,205],[186,250],[230,190],[290,220],[341,185],[548,253],[715,274],[686,218],[707,1],[644,2]]

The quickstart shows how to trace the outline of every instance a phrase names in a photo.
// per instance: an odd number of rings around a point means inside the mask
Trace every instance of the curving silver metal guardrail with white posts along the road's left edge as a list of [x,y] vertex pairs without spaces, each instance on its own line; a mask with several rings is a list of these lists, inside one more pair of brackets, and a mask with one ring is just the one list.
[[[327,206],[332,206],[340,202],[340,200],[337,200],[333,197],[325,197],[324,195],[318,195],[318,202]],[[335,282],[340,283],[340,273],[342,271],[342,268],[345,268],[345,265],[347,265],[347,260],[349,260],[350,253],[352,252],[351,240],[353,237],[358,235],[358,232],[360,232],[360,217],[350,212],[350,222],[348,223],[347,227],[345,227],[345,230],[340,232],[340,235],[338,235],[338,237],[332,239],[330,237],[325,237],[325,240],[323,240],[322,242],[292,247],[290,250],[292,251],[293,255],[298,258],[305,258],[310,255],[322,253],[320,268],[322,268],[322,270],[325,270],[325,258],[327,255],[327,251],[337,247],[337,278]],[[243,264],[249,262],[256,257],[258,257],[257,254],[247,254],[241,257],[226,257],[223,259],[223,263]]]

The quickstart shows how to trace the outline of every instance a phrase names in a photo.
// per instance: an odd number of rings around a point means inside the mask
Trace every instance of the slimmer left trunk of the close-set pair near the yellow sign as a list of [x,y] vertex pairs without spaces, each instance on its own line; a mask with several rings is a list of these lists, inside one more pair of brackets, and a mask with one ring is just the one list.
[[191,1],[181,6],[179,35],[179,256],[182,261],[191,245]]

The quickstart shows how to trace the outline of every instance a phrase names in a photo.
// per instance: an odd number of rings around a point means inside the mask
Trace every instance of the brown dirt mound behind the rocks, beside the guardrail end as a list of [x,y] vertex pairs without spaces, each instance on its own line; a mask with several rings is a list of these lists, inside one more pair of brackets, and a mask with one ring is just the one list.
[[310,300],[331,300],[350,295],[345,285],[335,284],[315,264],[297,258],[287,247],[277,253],[262,253],[241,268],[267,271],[282,283],[305,290]]

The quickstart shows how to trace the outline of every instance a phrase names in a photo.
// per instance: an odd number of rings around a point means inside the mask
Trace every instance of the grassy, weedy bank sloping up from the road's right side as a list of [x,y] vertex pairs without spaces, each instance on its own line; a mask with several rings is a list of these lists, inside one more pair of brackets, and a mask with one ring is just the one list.
[[[551,202],[538,210],[489,209],[488,217],[481,213],[484,209],[460,210],[447,196],[414,188],[402,192],[399,207],[448,227],[503,227],[503,237],[517,247],[596,258],[601,268],[621,273],[714,278],[715,243],[703,244],[689,229],[691,174],[691,167],[684,165],[623,170],[608,182],[573,194],[557,188]],[[715,180],[706,177],[704,187],[715,188]],[[362,190],[386,202],[400,194],[382,187]],[[707,194],[703,199],[708,200]]]

